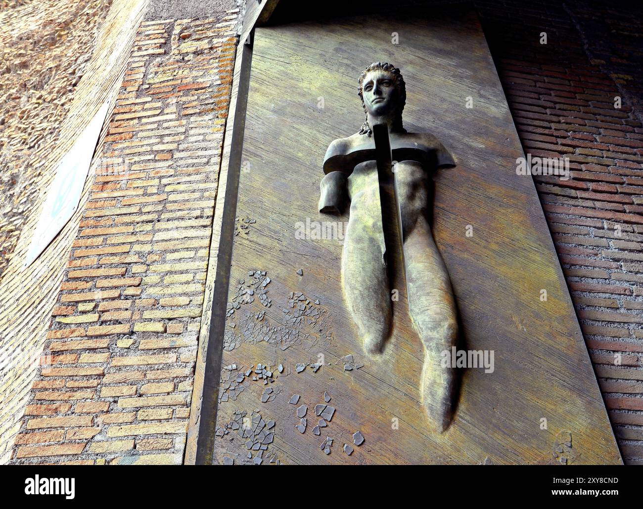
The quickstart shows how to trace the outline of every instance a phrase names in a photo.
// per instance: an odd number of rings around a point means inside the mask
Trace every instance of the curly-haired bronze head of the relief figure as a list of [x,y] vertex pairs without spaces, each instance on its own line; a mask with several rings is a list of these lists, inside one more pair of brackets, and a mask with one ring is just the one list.
[[374,62],[359,76],[359,97],[366,120],[359,134],[371,135],[368,118],[386,121],[391,130],[404,130],[402,112],[406,103],[406,84],[400,70],[388,62]]

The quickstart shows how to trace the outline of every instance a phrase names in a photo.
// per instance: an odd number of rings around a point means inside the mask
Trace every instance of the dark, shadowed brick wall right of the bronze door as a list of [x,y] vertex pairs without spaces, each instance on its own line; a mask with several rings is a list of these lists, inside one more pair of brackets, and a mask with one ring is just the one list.
[[476,5],[525,152],[570,160],[570,180],[534,180],[622,455],[643,464],[641,9]]

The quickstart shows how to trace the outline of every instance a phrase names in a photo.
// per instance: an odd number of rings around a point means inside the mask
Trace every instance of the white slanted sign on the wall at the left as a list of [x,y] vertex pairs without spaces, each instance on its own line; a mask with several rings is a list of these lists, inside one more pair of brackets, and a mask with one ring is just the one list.
[[91,164],[91,156],[94,154],[108,107],[109,102],[102,105],[57,166],[56,175],[47,192],[41,217],[24,260],[24,267],[31,265],[33,260],[41,255],[78,207]]

